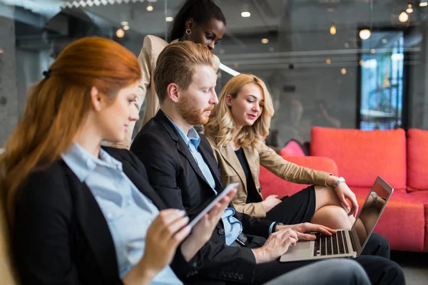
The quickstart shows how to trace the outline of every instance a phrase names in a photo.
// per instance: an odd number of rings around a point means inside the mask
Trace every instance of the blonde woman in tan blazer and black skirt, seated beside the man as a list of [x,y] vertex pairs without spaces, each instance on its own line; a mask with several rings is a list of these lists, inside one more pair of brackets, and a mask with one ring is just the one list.
[[[218,100],[205,126],[205,136],[220,165],[223,185],[240,183],[233,199],[239,212],[283,224],[312,222],[332,229],[351,227],[358,204],[343,177],[287,162],[265,145],[274,108],[260,78],[240,74],[230,79]],[[277,195],[263,199],[258,180],[260,165],[284,180],[312,186],[286,199]]]

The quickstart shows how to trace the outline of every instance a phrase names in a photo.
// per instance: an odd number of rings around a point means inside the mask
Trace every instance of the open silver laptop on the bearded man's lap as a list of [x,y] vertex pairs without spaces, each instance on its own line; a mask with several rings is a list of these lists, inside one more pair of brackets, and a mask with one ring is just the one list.
[[[377,177],[352,229],[337,229],[337,233],[331,237],[315,233],[316,240],[299,241],[294,247],[290,246],[280,261],[359,257],[393,191],[387,182],[384,182],[381,177]],[[377,196],[377,199],[370,195],[371,192],[376,193],[374,197]]]

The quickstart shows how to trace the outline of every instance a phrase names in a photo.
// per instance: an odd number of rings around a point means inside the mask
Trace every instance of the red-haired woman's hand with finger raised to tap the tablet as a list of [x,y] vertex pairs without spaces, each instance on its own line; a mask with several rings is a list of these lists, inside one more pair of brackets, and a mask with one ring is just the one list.
[[[125,276],[125,284],[150,284],[173,260],[180,242],[190,233],[185,211],[164,209],[148,228],[143,258]],[[138,229],[136,229],[138,230]]]

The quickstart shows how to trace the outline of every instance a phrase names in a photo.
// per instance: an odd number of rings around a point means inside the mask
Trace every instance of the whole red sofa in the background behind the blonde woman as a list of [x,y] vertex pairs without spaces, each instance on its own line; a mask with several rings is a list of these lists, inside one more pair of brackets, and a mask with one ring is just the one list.
[[[312,128],[309,157],[286,160],[345,177],[362,204],[379,175],[394,187],[374,232],[394,250],[428,252],[428,131]],[[263,195],[292,195],[305,185],[260,167]]]

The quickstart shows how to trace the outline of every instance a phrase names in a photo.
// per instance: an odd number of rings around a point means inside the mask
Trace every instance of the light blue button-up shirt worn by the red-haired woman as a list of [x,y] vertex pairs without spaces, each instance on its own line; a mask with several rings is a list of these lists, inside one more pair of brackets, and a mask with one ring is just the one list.
[[[123,279],[143,257],[147,229],[158,216],[158,208],[133,185],[123,172],[122,163],[103,149],[97,158],[73,144],[61,156],[98,202],[113,237],[119,274]],[[151,284],[183,283],[170,266],[166,266]]]

